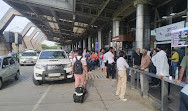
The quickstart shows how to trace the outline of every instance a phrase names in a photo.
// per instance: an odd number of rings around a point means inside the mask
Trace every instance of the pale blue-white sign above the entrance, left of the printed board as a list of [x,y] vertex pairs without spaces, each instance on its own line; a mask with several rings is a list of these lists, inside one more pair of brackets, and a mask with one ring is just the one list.
[[160,27],[156,29],[156,40],[157,41],[170,41],[172,38],[172,31],[184,28],[184,21]]

